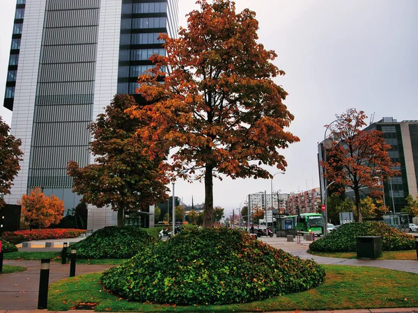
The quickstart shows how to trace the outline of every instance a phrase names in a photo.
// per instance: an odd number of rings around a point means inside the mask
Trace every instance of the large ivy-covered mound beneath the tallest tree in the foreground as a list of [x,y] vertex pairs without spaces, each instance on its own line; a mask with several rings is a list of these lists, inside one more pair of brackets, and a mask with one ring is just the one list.
[[131,301],[222,305],[318,286],[325,271],[312,260],[227,228],[183,230],[102,275],[105,289]]

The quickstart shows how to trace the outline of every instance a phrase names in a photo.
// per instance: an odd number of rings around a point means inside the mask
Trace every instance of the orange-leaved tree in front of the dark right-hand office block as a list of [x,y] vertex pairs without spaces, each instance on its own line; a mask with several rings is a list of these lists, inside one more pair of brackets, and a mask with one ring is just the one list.
[[[362,222],[360,195],[369,190],[371,197],[382,197],[382,181],[399,174],[387,150],[382,131],[362,130],[367,118],[363,111],[348,109],[336,115],[336,122],[330,127],[330,138],[325,145],[327,161],[322,161],[324,176],[328,182],[341,186],[340,191],[349,188],[354,191],[356,216]],[[332,127],[331,127],[332,126]]]

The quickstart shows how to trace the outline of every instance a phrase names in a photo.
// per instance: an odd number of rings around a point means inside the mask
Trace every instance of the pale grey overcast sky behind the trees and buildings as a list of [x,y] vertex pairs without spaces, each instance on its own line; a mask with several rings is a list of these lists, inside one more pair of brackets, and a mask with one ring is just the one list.
[[[180,0],[180,25],[197,8]],[[300,143],[282,151],[286,175],[276,175],[274,191],[298,192],[319,186],[317,144],[323,125],[350,107],[374,121],[392,116],[418,120],[417,0],[236,0],[237,10],[256,12],[259,42],[276,51],[274,64],[286,72],[277,83],[288,92],[295,115],[290,131]],[[1,0],[0,95],[3,99],[15,0]],[[1,105],[9,124],[11,113]],[[370,119],[369,119],[370,121]],[[369,122],[368,121],[368,122]],[[275,168],[271,173],[278,172]],[[270,193],[270,179],[215,180],[214,204],[226,212],[249,193]],[[204,201],[203,184],[176,182],[176,195],[191,204]]]

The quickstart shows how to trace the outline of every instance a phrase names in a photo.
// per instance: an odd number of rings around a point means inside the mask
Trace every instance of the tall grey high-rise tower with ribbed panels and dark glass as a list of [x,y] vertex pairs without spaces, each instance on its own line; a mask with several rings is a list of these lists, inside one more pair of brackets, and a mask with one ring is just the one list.
[[[68,161],[93,162],[88,125],[116,93],[135,93],[149,56],[165,54],[158,34],[175,36],[177,21],[178,0],[17,0],[3,105],[24,161],[8,204],[40,187],[77,206]],[[110,209],[88,213],[91,230],[116,224]]]

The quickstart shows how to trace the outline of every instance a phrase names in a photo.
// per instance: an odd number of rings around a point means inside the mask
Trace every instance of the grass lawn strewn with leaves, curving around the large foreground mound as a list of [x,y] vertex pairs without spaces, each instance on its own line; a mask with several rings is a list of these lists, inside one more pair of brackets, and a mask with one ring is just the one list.
[[315,289],[233,305],[151,305],[107,294],[100,273],[80,275],[51,284],[48,310],[71,308],[109,312],[258,312],[417,307],[418,275],[368,266],[324,266],[325,282]]

